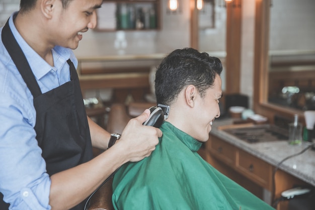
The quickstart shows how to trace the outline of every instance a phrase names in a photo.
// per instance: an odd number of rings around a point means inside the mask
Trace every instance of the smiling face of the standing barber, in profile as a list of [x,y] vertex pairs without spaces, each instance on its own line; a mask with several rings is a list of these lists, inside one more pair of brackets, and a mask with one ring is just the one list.
[[96,9],[101,6],[102,0],[73,0],[66,9],[62,8],[61,1],[55,2],[54,45],[75,49],[83,33],[95,28]]

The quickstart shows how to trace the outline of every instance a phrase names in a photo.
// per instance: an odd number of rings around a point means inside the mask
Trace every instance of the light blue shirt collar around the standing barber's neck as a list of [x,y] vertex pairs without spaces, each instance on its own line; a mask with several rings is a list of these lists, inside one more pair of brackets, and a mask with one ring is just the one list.
[[[10,29],[19,43],[31,69],[32,72],[37,80],[40,80],[43,76],[45,76],[47,73],[49,73],[52,69],[55,71],[55,68],[53,68],[50,64],[48,64],[39,54],[33,50],[33,48],[28,45],[28,43],[23,39],[21,34],[18,32],[17,28],[14,25],[14,18],[18,12],[15,12],[9,19],[9,26]],[[60,56],[59,53],[63,53],[62,56]],[[66,50],[62,50],[61,47],[54,47],[52,50],[54,63],[58,60],[59,62],[64,63],[67,59],[70,58],[70,53]],[[60,60],[61,59],[61,60]]]

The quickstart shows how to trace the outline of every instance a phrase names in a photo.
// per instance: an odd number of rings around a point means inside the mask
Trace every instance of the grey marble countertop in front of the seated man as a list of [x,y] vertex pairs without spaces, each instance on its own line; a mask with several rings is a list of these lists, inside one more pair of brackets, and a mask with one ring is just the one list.
[[287,141],[251,144],[225,132],[224,130],[218,129],[219,126],[231,124],[233,124],[233,119],[216,119],[213,122],[210,134],[215,135],[231,145],[234,145],[302,181],[315,186],[315,150],[308,149],[300,155],[287,159],[278,166],[283,159],[293,154],[297,154],[309,147],[309,143],[303,142],[298,146],[289,145]]

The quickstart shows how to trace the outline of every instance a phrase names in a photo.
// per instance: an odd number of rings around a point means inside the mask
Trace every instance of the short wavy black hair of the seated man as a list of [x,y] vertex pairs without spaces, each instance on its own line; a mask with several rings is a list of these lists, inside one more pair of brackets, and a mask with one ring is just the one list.
[[213,87],[216,75],[222,72],[219,58],[193,48],[176,49],[157,67],[155,95],[158,104],[172,105],[178,94],[188,85],[194,85],[203,98]]

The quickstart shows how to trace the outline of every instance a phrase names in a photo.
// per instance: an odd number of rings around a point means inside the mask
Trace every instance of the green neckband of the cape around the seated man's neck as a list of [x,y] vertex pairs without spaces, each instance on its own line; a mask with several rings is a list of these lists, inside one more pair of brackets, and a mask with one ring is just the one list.
[[164,121],[161,126],[161,130],[163,131],[164,129],[173,131],[173,133],[180,139],[180,141],[184,145],[186,145],[192,152],[197,152],[202,146],[201,142],[197,141],[195,138],[178,129],[167,121]]

